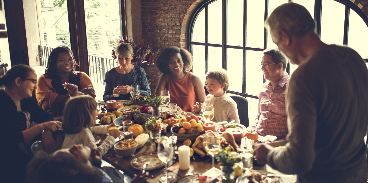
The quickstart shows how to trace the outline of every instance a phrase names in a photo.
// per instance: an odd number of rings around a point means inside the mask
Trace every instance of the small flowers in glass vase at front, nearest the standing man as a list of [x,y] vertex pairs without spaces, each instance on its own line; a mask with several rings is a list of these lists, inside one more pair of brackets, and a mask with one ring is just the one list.
[[236,151],[231,151],[231,147],[227,146],[224,149],[220,149],[216,155],[216,160],[219,163],[223,172],[222,182],[234,182],[234,169],[235,163],[241,161],[240,155]]

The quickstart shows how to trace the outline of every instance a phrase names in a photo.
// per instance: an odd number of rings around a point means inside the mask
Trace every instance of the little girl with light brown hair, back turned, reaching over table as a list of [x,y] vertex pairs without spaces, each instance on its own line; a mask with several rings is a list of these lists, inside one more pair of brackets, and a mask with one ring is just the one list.
[[[61,127],[66,135],[61,148],[67,149],[74,144],[82,144],[91,149],[98,149],[102,155],[105,155],[115,144],[115,139],[120,136],[120,132],[108,130],[110,127],[116,127],[114,123],[95,127],[97,115],[97,103],[91,96],[78,95],[70,98],[64,107],[64,120]],[[110,135],[97,147],[93,133]]]

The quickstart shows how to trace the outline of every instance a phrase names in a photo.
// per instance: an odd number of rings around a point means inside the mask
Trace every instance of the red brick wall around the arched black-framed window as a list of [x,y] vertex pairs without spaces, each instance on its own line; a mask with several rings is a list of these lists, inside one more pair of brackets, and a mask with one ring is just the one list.
[[[186,48],[187,23],[192,10],[203,0],[141,0],[143,38],[159,48]],[[351,0],[368,17],[368,0]],[[161,76],[155,65],[146,67],[154,91]]]

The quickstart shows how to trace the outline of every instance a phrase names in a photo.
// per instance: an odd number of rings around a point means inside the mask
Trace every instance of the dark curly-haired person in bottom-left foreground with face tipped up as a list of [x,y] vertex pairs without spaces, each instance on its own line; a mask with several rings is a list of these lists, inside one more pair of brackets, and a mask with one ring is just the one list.
[[[117,169],[102,166],[99,150],[82,145],[60,149],[53,154],[39,152],[27,165],[27,183],[124,183]],[[131,183],[145,182],[149,173],[141,170]]]

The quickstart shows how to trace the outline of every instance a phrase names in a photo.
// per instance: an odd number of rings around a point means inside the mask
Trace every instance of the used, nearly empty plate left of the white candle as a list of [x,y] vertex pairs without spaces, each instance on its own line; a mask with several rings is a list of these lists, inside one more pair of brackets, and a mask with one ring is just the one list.
[[141,170],[145,161],[149,161],[146,170],[153,170],[165,166],[164,162],[158,158],[157,152],[139,154],[130,161],[130,165],[135,169]]

